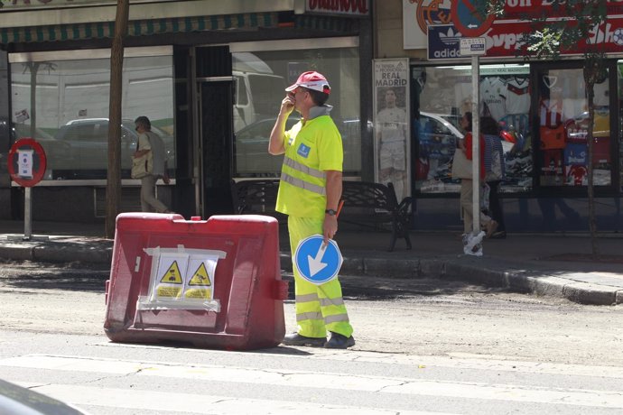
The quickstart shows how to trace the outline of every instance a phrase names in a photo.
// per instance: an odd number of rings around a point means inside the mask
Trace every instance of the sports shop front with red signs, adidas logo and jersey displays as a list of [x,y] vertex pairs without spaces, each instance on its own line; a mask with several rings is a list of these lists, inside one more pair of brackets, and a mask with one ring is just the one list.
[[[594,171],[596,218],[600,231],[621,228],[621,81],[623,4],[607,2],[607,24],[595,27],[560,60],[525,60],[521,35],[530,32],[526,15],[546,11],[551,2],[507,2],[504,17],[474,18],[469,1],[403,0],[375,9],[377,59],[409,62],[409,178],[416,200],[416,227],[460,229],[459,180],[451,178],[459,120],[473,111],[502,127],[506,178],[499,186],[507,230],[583,231],[588,226],[588,166]],[[550,7],[550,10],[547,8]],[[478,90],[472,58],[460,54],[460,40],[479,38]],[[599,43],[607,51],[607,73],[594,87],[592,159],[586,131],[588,99],[582,75],[582,48]],[[380,101],[379,101],[380,102]]]

